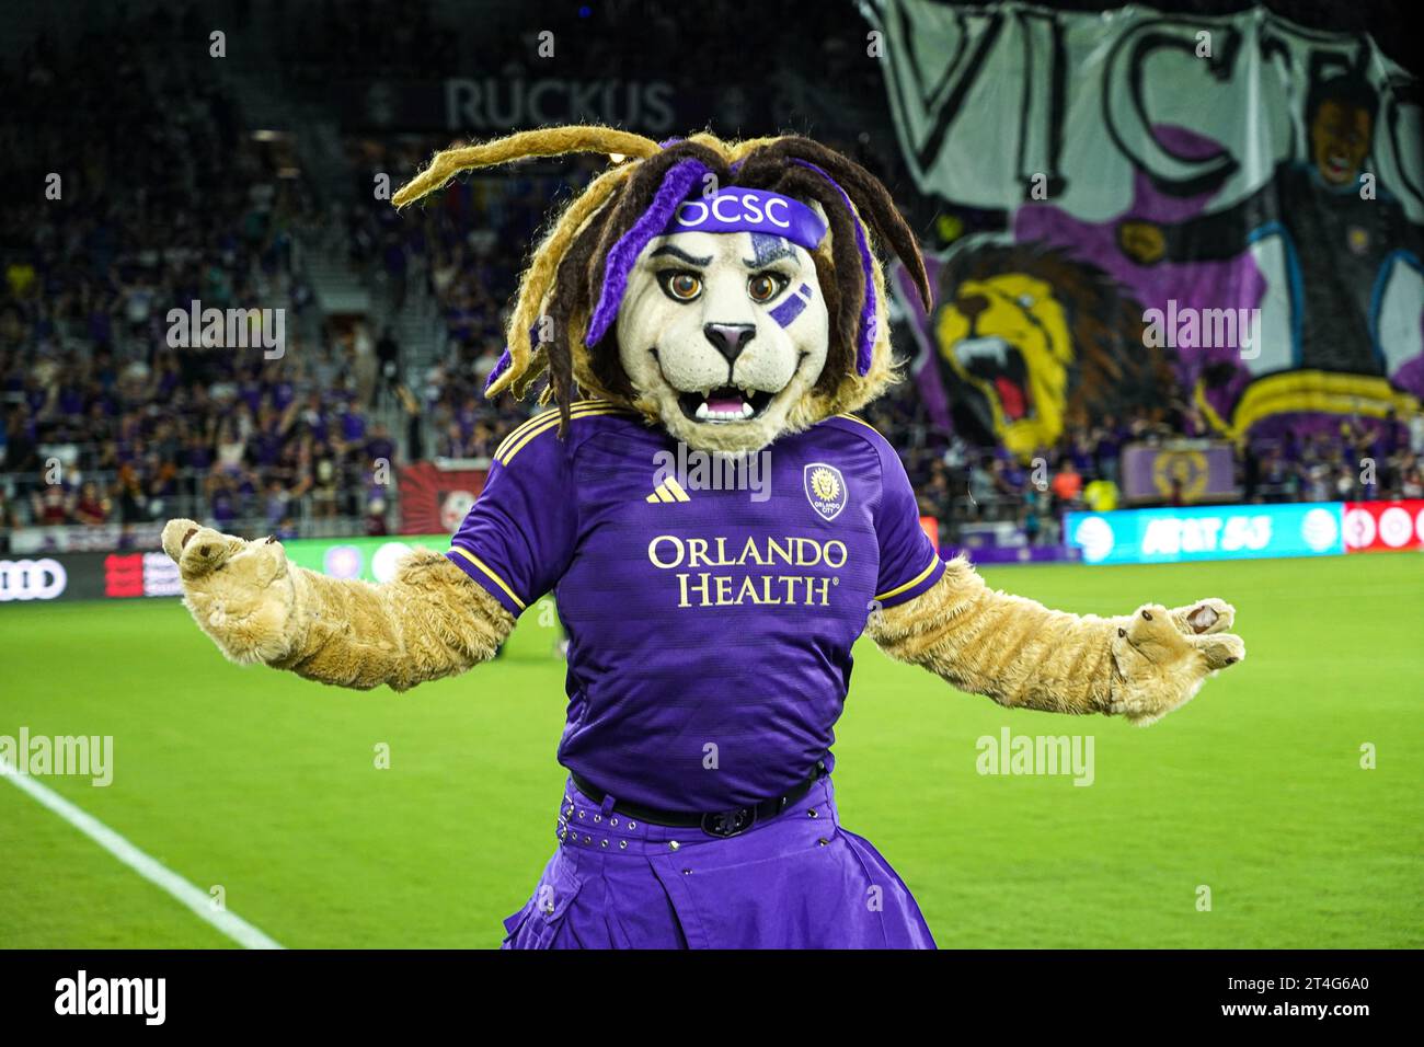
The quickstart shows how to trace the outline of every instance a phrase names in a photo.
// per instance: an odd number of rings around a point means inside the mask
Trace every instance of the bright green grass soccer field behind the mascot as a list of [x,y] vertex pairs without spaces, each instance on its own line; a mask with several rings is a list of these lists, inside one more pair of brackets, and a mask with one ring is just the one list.
[[[842,815],[941,947],[1424,946],[1424,557],[985,574],[1099,614],[1222,595],[1249,654],[1138,729],[1010,712],[864,642]],[[397,697],[229,665],[177,601],[9,605],[0,735],[114,735],[111,786],[44,782],[288,947],[496,946],[561,796],[537,617]],[[1094,735],[1096,781],[981,776],[1004,725]],[[232,944],[9,782],[0,855],[0,947]]]

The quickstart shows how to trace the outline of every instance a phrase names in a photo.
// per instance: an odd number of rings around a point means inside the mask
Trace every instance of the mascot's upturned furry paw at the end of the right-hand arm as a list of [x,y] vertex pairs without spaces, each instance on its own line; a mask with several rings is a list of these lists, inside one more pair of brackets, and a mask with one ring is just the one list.
[[1235,620],[1230,604],[1200,600],[1171,611],[1146,604],[1119,621],[1108,712],[1146,726],[1186,705],[1208,677],[1246,657],[1242,638],[1226,632]]

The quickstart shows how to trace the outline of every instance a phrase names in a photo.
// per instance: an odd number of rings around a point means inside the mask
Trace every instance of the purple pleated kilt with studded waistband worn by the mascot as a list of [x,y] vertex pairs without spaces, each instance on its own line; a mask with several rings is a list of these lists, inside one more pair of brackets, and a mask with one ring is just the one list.
[[561,842],[504,949],[934,949],[830,776],[739,836],[628,821],[564,786]]

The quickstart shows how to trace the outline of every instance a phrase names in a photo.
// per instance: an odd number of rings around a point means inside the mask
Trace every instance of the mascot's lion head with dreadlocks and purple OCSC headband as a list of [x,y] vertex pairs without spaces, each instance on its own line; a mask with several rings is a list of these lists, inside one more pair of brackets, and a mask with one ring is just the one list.
[[894,380],[876,248],[928,308],[924,262],[884,185],[807,138],[524,131],[437,154],[394,204],[460,171],[568,152],[612,165],[534,251],[487,396],[523,397],[543,377],[564,423],[577,396],[595,396],[689,447],[746,453]]

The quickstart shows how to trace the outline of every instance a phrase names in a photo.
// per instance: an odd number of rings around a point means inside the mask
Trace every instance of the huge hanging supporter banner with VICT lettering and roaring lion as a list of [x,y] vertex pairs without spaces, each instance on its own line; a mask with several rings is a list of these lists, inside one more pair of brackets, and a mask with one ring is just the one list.
[[1367,36],[1257,6],[1202,61],[1152,6],[860,10],[914,56],[880,70],[934,303],[890,285],[936,426],[1028,464],[1172,400],[1232,442],[1421,410],[1417,77]]

